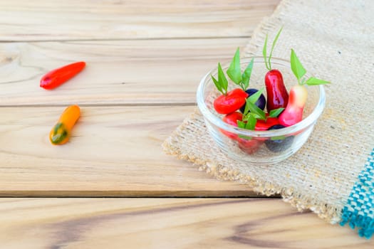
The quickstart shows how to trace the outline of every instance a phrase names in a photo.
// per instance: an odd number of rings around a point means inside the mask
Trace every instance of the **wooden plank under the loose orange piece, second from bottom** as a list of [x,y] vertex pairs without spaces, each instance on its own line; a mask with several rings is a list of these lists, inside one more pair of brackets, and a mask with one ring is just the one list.
[[82,107],[71,141],[48,133],[65,107],[0,108],[0,196],[251,196],[162,152],[194,107]]

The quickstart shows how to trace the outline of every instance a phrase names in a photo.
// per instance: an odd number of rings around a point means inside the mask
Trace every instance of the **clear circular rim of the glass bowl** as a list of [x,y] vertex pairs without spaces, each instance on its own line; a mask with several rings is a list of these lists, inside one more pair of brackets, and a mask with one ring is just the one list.
[[[246,57],[246,58],[241,58],[241,64],[247,64],[249,61],[254,58],[254,63],[264,63],[264,58],[260,56],[253,56],[253,57]],[[290,68],[290,61],[289,60],[284,60],[281,58],[271,58],[271,62],[276,64],[280,64],[284,67]],[[273,65],[274,65],[273,64]],[[265,64],[264,64],[265,65]],[[226,69],[229,67],[229,63],[226,63],[222,65],[223,69]],[[290,68],[291,70],[291,68]],[[316,122],[318,120],[318,117],[322,114],[323,108],[325,107],[326,104],[326,94],[325,90],[323,88],[323,85],[316,85],[316,86],[311,86],[311,88],[319,88],[319,99],[316,107],[314,107],[313,111],[311,112],[308,117],[304,118],[301,120],[301,122],[298,122],[297,124],[291,125],[289,127],[285,127],[284,129],[272,129],[270,131],[252,131],[249,129],[241,129],[239,127],[235,127],[231,124],[227,124],[223,122],[217,115],[214,115],[211,111],[209,111],[207,105],[205,104],[204,100],[204,87],[205,85],[211,81],[207,80],[207,78],[210,78],[211,74],[217,73],[217,68],[214,68],[213,70],[210,70],[207,75],[205,75],[202,80],[199,83],[199,86],[197,88],[197,106],[199,107],[200,112],[202,112],[202,115],[204,115],[204,118],[209,120],[212,124],[215,124],[217,127],[220,129],[224,129],[227,132],[232,132],[234,134],[240,134],[244,135],[247,137],[278,137],[278,136],[286,136],[289,134],[296,134],[299,131],[305,129],[306,127],[309,127],[311,124]],[[295,79],[295,83],[296,83]],[[250,85],[250,83],[249,83]],[[306,100],[308,101],[308,100]]]

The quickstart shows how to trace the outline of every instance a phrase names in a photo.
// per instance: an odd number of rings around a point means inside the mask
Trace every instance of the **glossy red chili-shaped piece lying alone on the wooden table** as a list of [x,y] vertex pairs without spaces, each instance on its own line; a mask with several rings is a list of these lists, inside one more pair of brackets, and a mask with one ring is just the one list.
[[65,65],[62,68],[57,68],[51,70],[41,78],[40,86],[41,88],[51,90],[57,88],[59,85],[65,83],[67,80],[70,80],[75,75],[77,75],[85,67],[85,62],[80,61],[77,63],[72,63]]

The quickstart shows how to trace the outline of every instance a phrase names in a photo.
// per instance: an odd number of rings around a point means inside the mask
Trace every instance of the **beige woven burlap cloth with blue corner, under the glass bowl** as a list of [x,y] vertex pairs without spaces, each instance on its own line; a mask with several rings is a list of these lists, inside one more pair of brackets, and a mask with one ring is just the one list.
[[274,57],[289,59],[294,48],[308,72],[332,82],[325,88],[326,108],[308,142],[279,164],[247,166],[220,152],[197,112],[163,147],[218,179],[241,181],[261,194],[281,194],[299,210],[309,208],[331,223],[348,222],[370,238],[374,232],[374,1],[284,0],[254,31],[246,56],[261,55],[266,33],[272,41],[281,26]]

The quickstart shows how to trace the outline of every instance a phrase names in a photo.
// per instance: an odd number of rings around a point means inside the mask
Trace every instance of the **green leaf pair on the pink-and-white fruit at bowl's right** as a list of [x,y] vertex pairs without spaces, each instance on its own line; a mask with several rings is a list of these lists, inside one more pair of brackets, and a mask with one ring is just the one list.
[[295,77],[297,78],[298,85],[326,85],[330,84],[330,82],[326,80],[320,80],[315,77],[310,77],[308,79],[304,78],[306,75],[306,70],[301,64],[300,60],[294,51],[291,49],[291,70],[294,73]]

